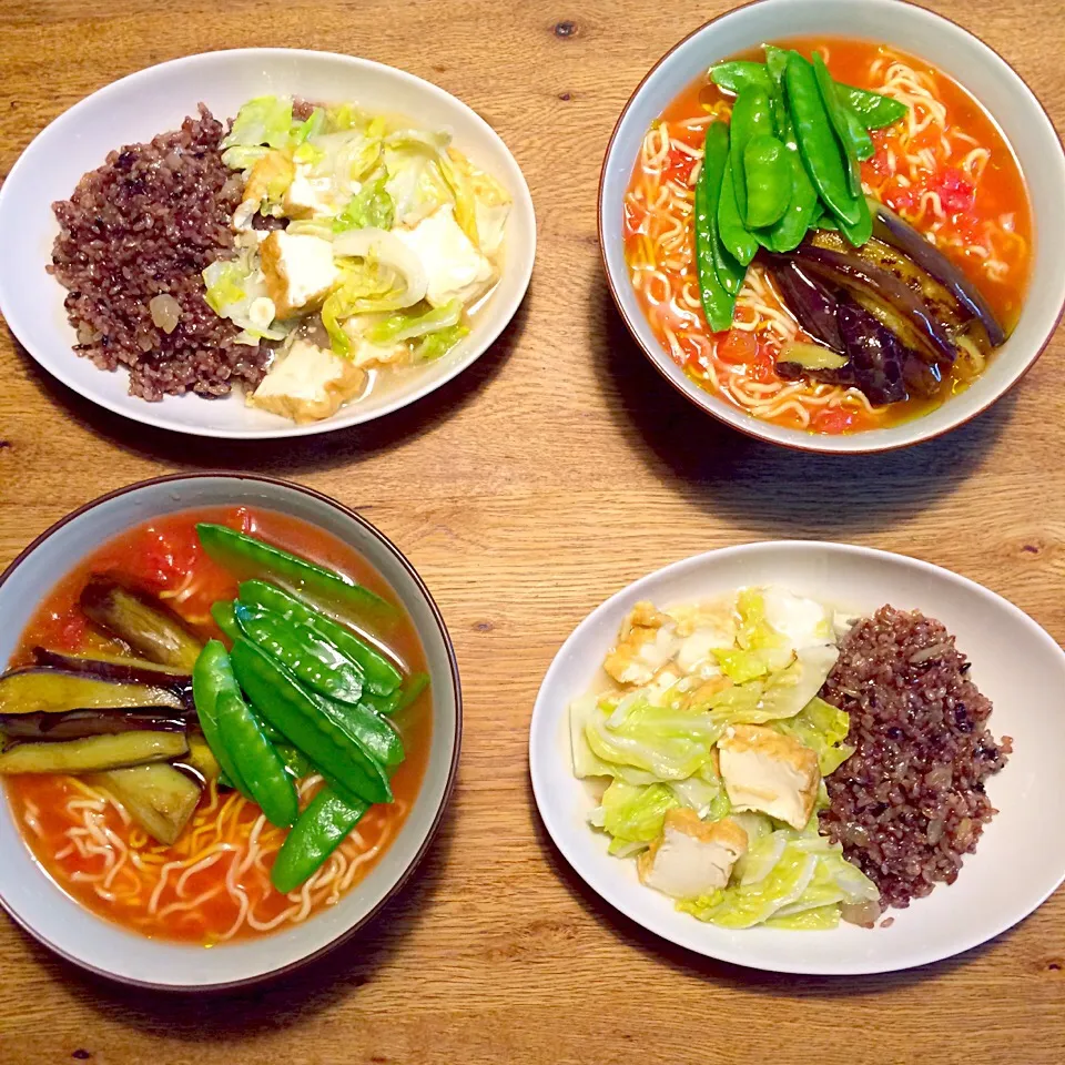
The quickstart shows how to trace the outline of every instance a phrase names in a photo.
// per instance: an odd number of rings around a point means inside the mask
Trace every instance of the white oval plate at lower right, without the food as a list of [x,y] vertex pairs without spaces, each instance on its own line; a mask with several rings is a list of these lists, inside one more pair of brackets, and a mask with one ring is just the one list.
[[[1014,753],[991,778],[998,815],[951,886],[906,910],[886,929],[842,924],[831,932],[733,932],[678,913],[642,886],[636,863],[607,854],[586,823],[596,805],[572,774],[567,708],[594,682],[622,618],[640,599],[659,605],[775,584],[798,595],[871,612],[890,602],[939,618],[973,662],[972,678],[994,703],[991,729]],[[710,551],[636,581],[594,610],[562,645],[532,713],[532,789],[566,860],[612,906],[651,932],[708,957],[782,973],[844,975],[926,965],[967,951],[1016,924],[1065,879],[1065,653],[1031,618],[964,577],[901,555],[839,544],[780,541]]]

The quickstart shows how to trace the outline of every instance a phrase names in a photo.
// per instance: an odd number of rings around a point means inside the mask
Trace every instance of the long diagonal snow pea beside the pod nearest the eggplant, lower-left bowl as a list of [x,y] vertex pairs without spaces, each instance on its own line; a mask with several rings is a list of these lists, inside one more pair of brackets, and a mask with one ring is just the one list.
[[255,709],[345,792],[392,802],[384,767],[280,662],[250,640],[233,645],[233,670]]

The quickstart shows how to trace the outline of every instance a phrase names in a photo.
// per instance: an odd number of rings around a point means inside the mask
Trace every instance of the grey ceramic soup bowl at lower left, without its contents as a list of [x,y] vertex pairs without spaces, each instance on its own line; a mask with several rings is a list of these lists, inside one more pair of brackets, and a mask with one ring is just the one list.
[[[0,577],[0,661],[7,665],[57,580],[146,523],[210,508],[246,507],[300,523],[339,541],[372,568],[409,620],[430,678],[432,739],[405,819],[365,876],[302,923],[234,939],[213,949],[153,936],[91,911],[34,858],[17,823],[11,795],[0,800],[0,904],[11,919],[65,960],[123,983],[170,991],[233,987],[304,965],[362,929],[413,875],[447,803],[458,767],[462,699],[450,638],[432,596],[403,554],[368,521],[306,488],[261,477],[201,474],[163,477],[104,496],[74,511],[31,544]],[[404,622],[406,623],[406,622]],[[423,697],[425,700],[426,697]],[[425,702],[420,703],[426,712]],[[408,752],[409,753],[409,752]],[[398,798],[398,789],[396,795]],[[132,848],[132,844],[131,844]],[[191,882],[190,882],[191,883]],[[196,894],[190,891],[189,894]],[[176,921],[176,915],[175,919]],[[169,929],[163,930],[164,933]]]

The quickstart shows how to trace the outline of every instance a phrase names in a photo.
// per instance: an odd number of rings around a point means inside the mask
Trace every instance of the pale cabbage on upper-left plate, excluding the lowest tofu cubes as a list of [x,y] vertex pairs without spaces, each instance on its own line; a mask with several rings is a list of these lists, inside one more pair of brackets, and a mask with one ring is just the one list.
[[[224,162],[244,178],[233,217],[240,251],[204,272],[210,306],[250,344],[282,341],[303,317],[321,314],[333,353],[359,367],[446,355],[469,332],[469,308],[498,277],[510,209],[498,182],[449,142],[445,132],[351,103],[316,108],[306,120],[293,118],[290,98],[245,103],[222,142]],[[447,213],[437,230],[450,244],[426,247],[415,239],[418,227],[438,212]],[[252,232],[255,214],[286,219],[287,234],[333,246],[335,278],[306,315],[268,314],[277,308],[260,261],[262,234]],[[458,246],[459,239],[468,243]]]

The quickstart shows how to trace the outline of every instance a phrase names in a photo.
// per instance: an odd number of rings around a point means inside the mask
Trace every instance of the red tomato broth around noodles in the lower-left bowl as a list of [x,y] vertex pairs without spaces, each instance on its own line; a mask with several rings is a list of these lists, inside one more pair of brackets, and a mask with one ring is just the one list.
[[[164,601],[169,601],[171,608],[201,636],[219,636],[209,613],[210,606],[216,599],[234,598],[237,582],[200,547],[195,536],[197,521],[216,521],[254,532],[345,574],[395,601],[387,584],[365,559],[321,529],[270,510],[204,508],[161,518],[125,532],[63,577],[27,626],[10,665],[31,662],[36,646],[72,651],[90,648],[112,652],[125,650],[95,630],[77,606],[81,588],[90,575],[98,572],[113,574],[161,597],[169,597]],[[387,647],[406,668],[413,671],[426,668],[420,641],[406,616],[389,631]],[[406,760],[392,779],[395,802],[373,807],[337,852],[341,858],[335,855],[331,860],[339,870],[343,858],[343,872],[348,878],[344,890],[365,876],[398,833],[425,774],[432,738],[432,697],[423,694],[397,717],[399,720],[394,719],[394,723],[403,738]],[[89,779],[26,774],[8,778],[6,787],[14,821],[37,861],[67,894],[93,913],[150,937],[206,946],[225,939],[241,940],[264,934],[247,920],[240,920],[242,904],[239,895],[234,896],[229,890],[215,890],[224,889],[231,865],[251,854],[253,829],[261,819],[258,808],[239,793],[220,794],[212,784],[204,791],[181,838],[173,846],[165,846],[150,840],[112,801],[101,802],[99,797],[104,793],[92,788]],[[302,798],[308,801],[317,787],[305,782]],[[103,893],[97,888],[101,872],[110,868],[106,856],[84,853],[84,848],[71,844],[69,834],[82,825],[78,801],[91,803],[93,795],[98,797],[97,807],[100,808],[93,815],[101,832],[113,833],[129,849],[130,855],[138,855],[136,870],[132,858],[118,863],[124,868],[114,874]],[[71,801],[74,808],[70,807]],[[288,896],[274,890],[270,883],[270,868],[285,834],[286,830],[260,825],[255,841],[257,860],[247,863],[239,876],[234,876],[233,882],[246,895],[257,925],[278,922],[278,926],[284,927],[339,897],[336,890],[337,882],[343,879],[339,874],[304,895],[297,891]],[[152,905],[152,893],[159,888],[168,862],[191,860],[220,840],[233,843],[235,850],[221,854],[196,871],[174,870],[175,875],[165,878]],[[324,866],[328,868],[328,864]],[[286,910],[295,907],[294,899],[300,900],[300,907],[288,919],[282,917]],[[195,904],[189,906],[190,902]]]

